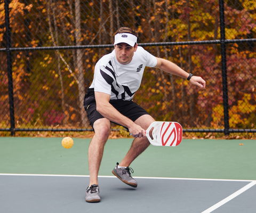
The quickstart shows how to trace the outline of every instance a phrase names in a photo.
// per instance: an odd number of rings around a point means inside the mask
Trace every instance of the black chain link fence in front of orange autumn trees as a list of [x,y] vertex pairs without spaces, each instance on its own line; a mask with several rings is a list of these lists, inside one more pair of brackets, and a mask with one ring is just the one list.
[[95,63],[119,27],[206,80],[146,68],[134,101],[184,132],[256,132],[256,3],[249,0],[0,1],[0,130],[91,130],[83,108]]

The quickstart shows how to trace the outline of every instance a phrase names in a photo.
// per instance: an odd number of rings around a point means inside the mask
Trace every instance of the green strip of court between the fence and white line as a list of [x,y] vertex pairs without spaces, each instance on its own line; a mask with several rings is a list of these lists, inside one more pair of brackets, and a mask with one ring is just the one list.
[[[62,138],[0,137],[0,173],[89,175],[87,151],[91,139],[73,138],[65,149]],[[132,143],[108,140],[99,171],[113,176]],[[243,143],[244,145],[239,145]],[[255,140],[183,140],[176,147],[150,145],[130,166],[134,177],[256,179]]]

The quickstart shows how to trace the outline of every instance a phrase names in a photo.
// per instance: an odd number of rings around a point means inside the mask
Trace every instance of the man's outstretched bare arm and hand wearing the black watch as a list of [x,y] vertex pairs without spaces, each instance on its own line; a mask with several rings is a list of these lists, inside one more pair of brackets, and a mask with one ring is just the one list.
[[[172,63],[171,61],[161,59],[161,58],[156,58],[157,64],[156,68],[159,68],[161,70],[164,70],[165,72],[168,72],[170,74],[180,76],[182,78],[188,78],[189,73],[186,72],[185,70],[182,70],[178,65]],[[190,82],[196,86],[199,86],[201,88],[205,88],[205,80],[199,76],[192,76],[190,78]]]

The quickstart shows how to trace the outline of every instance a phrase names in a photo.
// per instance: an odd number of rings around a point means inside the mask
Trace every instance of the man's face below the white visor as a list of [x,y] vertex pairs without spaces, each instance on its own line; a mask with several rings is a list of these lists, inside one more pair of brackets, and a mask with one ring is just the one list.
[[135,47],[130,46],[126,43],[119,43],[115,45],[116,59],[121,64],[128,64],[132,60],[134,52],[137,51],[138,44]]

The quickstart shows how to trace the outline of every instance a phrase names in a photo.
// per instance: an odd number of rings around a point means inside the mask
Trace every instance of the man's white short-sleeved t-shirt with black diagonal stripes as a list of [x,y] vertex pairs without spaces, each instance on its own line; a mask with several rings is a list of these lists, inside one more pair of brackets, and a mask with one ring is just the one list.
[[140,87],[145,67],[155,67],[156,64],[156,57],[140,46],[129,64],[119,63],[114,50],[96,63],[90,88],[109,94],[110,100],[130,101]]

